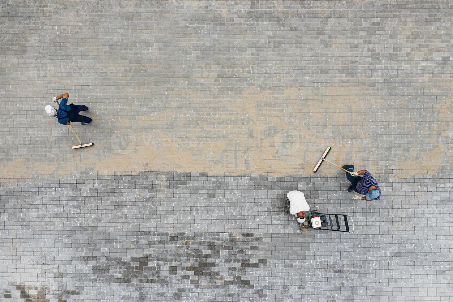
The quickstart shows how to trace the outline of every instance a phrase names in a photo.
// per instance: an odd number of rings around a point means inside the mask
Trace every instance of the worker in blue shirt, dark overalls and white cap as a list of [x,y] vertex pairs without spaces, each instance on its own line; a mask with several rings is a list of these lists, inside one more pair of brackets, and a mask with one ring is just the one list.
[[91,123],[92,119],[79,113],[81,111],[87,111],[88,107],[85,105],[74,105],[67,104],[67,99],[69,94],[63,93],[58,97],[53,98],[53,102],[57,102],[61,99],[58,109],[53,108],[50,105],[45,107],[46,113],[49,117],[57,117],[58,122],[62,125],[71,125],[71,122],[80,122],[82,125],[87,125]]

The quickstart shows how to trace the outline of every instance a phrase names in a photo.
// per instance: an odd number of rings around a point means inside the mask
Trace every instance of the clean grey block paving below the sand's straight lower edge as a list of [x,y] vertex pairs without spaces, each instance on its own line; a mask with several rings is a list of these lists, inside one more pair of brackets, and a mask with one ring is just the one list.
[[[452,301],[449,175],[142,172],[0,185],[5,301]],[[283,212],[349,213],[353,234],[302,233]],[[27,300],[28,299],[28,300]],[[39,300],[41,299],[41,300]],[[46,300],[47,299],[47,300]]]

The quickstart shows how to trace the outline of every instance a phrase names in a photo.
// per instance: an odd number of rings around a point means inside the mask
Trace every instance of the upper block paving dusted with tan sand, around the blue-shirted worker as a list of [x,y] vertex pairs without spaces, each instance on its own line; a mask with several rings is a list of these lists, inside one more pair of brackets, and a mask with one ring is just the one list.
[[[380,173],[452,172],[452,1],[0,5],[0,178],[308,175],[327,146]],[[44,115],[64,92],[94,148]]]

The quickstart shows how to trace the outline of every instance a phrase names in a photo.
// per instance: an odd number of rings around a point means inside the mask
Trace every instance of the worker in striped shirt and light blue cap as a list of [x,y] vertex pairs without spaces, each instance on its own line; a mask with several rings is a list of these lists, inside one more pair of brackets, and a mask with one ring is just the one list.
[[367,170],[360,170],[358,172],[354,172],[354,166],[352,165],[345,165],[343,169],[351,171],[351,173],[346,173],[346,178],[351,182],[351,185],[347,189],[348,192],[352,192],[353,190],[359,194],[365,196],[357,196],[354,195],[353,199],[361,199],[361,200],[378,200],[381,196],[381,189],[377,184],[377,180],[371,176],[370,172]]

